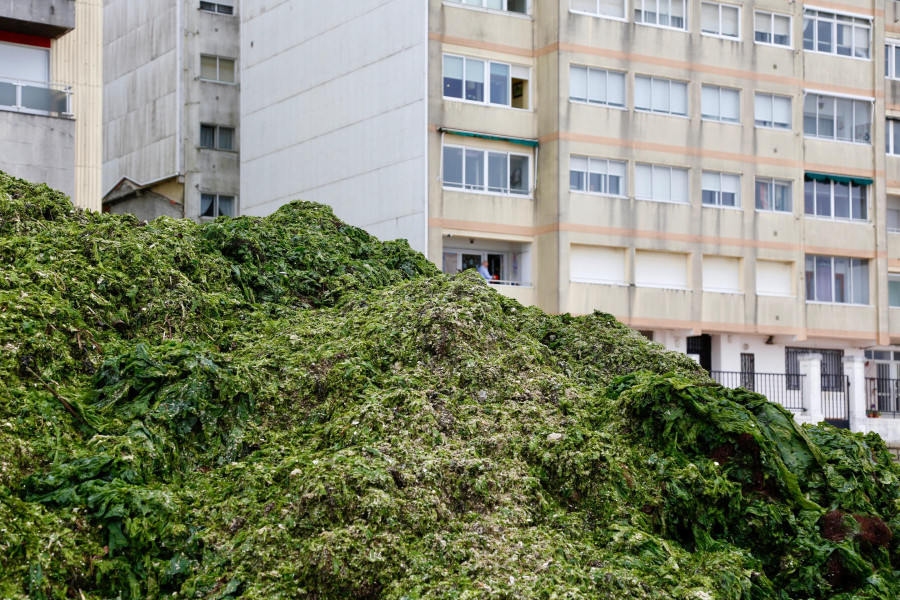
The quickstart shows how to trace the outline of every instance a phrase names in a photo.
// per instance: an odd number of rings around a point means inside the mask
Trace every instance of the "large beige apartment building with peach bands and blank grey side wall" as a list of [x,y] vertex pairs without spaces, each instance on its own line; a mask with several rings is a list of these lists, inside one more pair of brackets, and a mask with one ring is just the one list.
[[242,210],[329,203],[744,383],[799,389],[813,352],[825,391],[847,360],[900,378],[898,20],[865,0],[247,2]]

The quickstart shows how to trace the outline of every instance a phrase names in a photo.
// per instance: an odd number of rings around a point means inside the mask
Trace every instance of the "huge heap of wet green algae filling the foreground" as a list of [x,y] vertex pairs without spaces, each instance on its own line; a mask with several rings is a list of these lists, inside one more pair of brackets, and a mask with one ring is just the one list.
[[328,208],[0,175],[0,598],[896,598],[898,469]]

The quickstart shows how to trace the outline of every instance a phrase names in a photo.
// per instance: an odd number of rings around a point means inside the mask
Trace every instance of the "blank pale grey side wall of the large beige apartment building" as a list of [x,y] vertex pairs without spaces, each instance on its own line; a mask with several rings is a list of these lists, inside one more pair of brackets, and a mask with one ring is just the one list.
[[382,238],[426,239],[426,7],[244,2],[241,211],[330,204]]

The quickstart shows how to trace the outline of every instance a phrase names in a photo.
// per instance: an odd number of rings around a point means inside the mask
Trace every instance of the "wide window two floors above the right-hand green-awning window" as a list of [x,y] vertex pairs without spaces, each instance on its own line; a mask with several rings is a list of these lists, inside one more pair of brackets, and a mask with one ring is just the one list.
[[872,21],[821,10],[803,11],[803,49],[869,58]]

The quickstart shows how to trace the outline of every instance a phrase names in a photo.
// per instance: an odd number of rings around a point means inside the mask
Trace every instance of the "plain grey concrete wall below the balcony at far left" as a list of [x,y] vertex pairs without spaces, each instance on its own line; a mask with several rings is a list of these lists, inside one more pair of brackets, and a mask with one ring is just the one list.
[[75,121],[0,111],[0,171],[75,192]]

